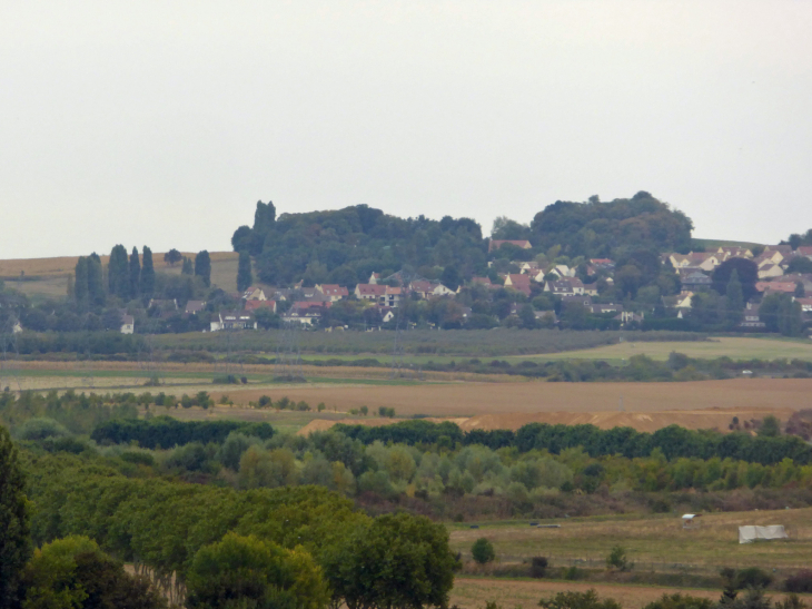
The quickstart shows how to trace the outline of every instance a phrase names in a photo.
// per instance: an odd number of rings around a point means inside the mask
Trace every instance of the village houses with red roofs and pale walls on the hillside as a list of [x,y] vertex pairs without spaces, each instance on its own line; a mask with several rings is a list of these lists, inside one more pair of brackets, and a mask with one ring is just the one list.
[[[531,248],[527,240],[492,239],[489,251],[495,251],[505,244],[519,249]],[[676,311],[677,317],[683,317],[691,310],[695,293],[710,289],[711,274],[722,263],[731,258],[746,258],[753,261],[759,268],[756,288],[762,294],[786,293],[795,297],[798,285],[812,294],[812,274],[790,274],[790,263],[799,256],[812,259],[812,247],[802,246],[793,251],[789,245],[769,245],[757,256],[745,247],[719,247],[713,252],[690,254],[663,254],[663,262],[667,262],[680,276],[682,292],[676,296],[663,298],[663,305]],[[493,264],[493,263],[489,263]],[[624,311],[622,304],[594,303],[597,296],[597,283],[584,283],[576,276],[576,269],[565,264],[539,264],[537,262],[511,263],[518,268],[518,273],[499,274],[504,287],[515,289],[531,297],[532,294],[548,294],[561,299],[564,307],[570,305],[583,306],[593,315],[611,316],[622,324],[641,322],[642,313]],[[588,276],[602,277],[608,285],[613,283],[615,264],[608,258],[592,258],[586,262]],[[493,276],[493,275],[492,275]],[[488,277],[473,277],[472,286],[484,286],[497,289],[503,285],[493,283]],[[384,323],[394,317],[394,310],[408,299],[430,301],[433,298],[453,297],[461,288],[453,291],[443,283],[423,278],[407,278],[400,273],[382,278],[373,273],[366,283],[357,284],[354,289],[341,285],[321,284],[314,287],[304,287],[301,283],[293,288],[268,288],[251,286],[241,294],[234,294],[235,299],[241,302],[236,311],[215,313],[210,321],[210,332],[224,330],[257,328],[257,313],[267,310],[269,313],[279,313],[283,322],[299,323],[311,326],[318,324],[323,315],[337,302],[344,299],[364,301],[370,308],[377,310]],[[804,314],[812,317],[812,298],[795,297],[801,304]],[[285,303],[285,306],[278,306]],[[181,312],[176,301],[150,301],[150,310],[161,317],[171,317],[179,313],[186,316],[198,315],[206,307],[202,301],[189,301]],[[518,305],[513,305],[512,314],[517,314]],[[464,316],[471,315],[471,310],[464,307]],[[535,312],[537,318],[553,315],[552,312]],[[133,332],[133,320],[122,315],[121,332]],[[763,327],[759,318],[759,305],[747,303],[742,327]]]

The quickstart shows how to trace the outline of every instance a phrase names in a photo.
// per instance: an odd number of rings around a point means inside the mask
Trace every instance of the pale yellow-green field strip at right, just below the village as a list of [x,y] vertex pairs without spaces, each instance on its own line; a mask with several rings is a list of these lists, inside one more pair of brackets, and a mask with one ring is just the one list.
[[786,357],[812,361],[812,341],[790,341],[781,338],[752,338],[745,336],[711,338],[690,342],[642,342],[620,343],[578,351],[545,353],[542,355],[515,355],[507,360],[628,360],[633,355],[647,355],[664,361],[672,352],[684,353],[690,357],[732,360],[776,360]]

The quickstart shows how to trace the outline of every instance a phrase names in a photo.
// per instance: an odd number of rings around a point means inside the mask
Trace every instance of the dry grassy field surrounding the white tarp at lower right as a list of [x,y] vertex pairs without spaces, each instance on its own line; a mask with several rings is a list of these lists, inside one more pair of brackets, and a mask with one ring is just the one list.
[[[496,522],[471,529],[449,524],[455,551],[471,559],[471,546],[481,537],[494,544],[502,562],[534,556],[553,566],[603,568],[613,547],[622,546],[640,570],[705,570],[722,567],[802,569],[812,557],[812,508],[778,511],[723,512],[702,515],[695,530],[685,530],[679,514],[594,517],[551,521],[561,528],[536,528],[524,522]],[[543,523],[547,523],[544,521]],[[789,540],[739,543],[739,527],[783,524]]]

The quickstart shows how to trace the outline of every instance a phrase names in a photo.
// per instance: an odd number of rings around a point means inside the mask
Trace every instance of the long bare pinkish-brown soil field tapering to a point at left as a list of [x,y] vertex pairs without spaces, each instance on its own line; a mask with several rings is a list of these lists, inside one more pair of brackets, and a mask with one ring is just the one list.
[[[217,394],[217,392],[215,392]],[[736,379],[690,383],[445,383],[420,385],[270,385],[226,391],[239,404],[287,395],[338,410],[394,407],[399,415],[476,416],[531,413],[724,412],[812,407],[810,379]],[[623,412],[618,406],[623,400]]]

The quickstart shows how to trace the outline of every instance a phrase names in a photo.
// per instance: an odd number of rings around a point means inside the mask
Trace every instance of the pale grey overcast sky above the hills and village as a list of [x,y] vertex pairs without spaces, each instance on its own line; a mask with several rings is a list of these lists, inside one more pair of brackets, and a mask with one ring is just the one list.
[[810,0],[0,0],[0,258],[637,190],[778,242],[812,227],[811,32]]

